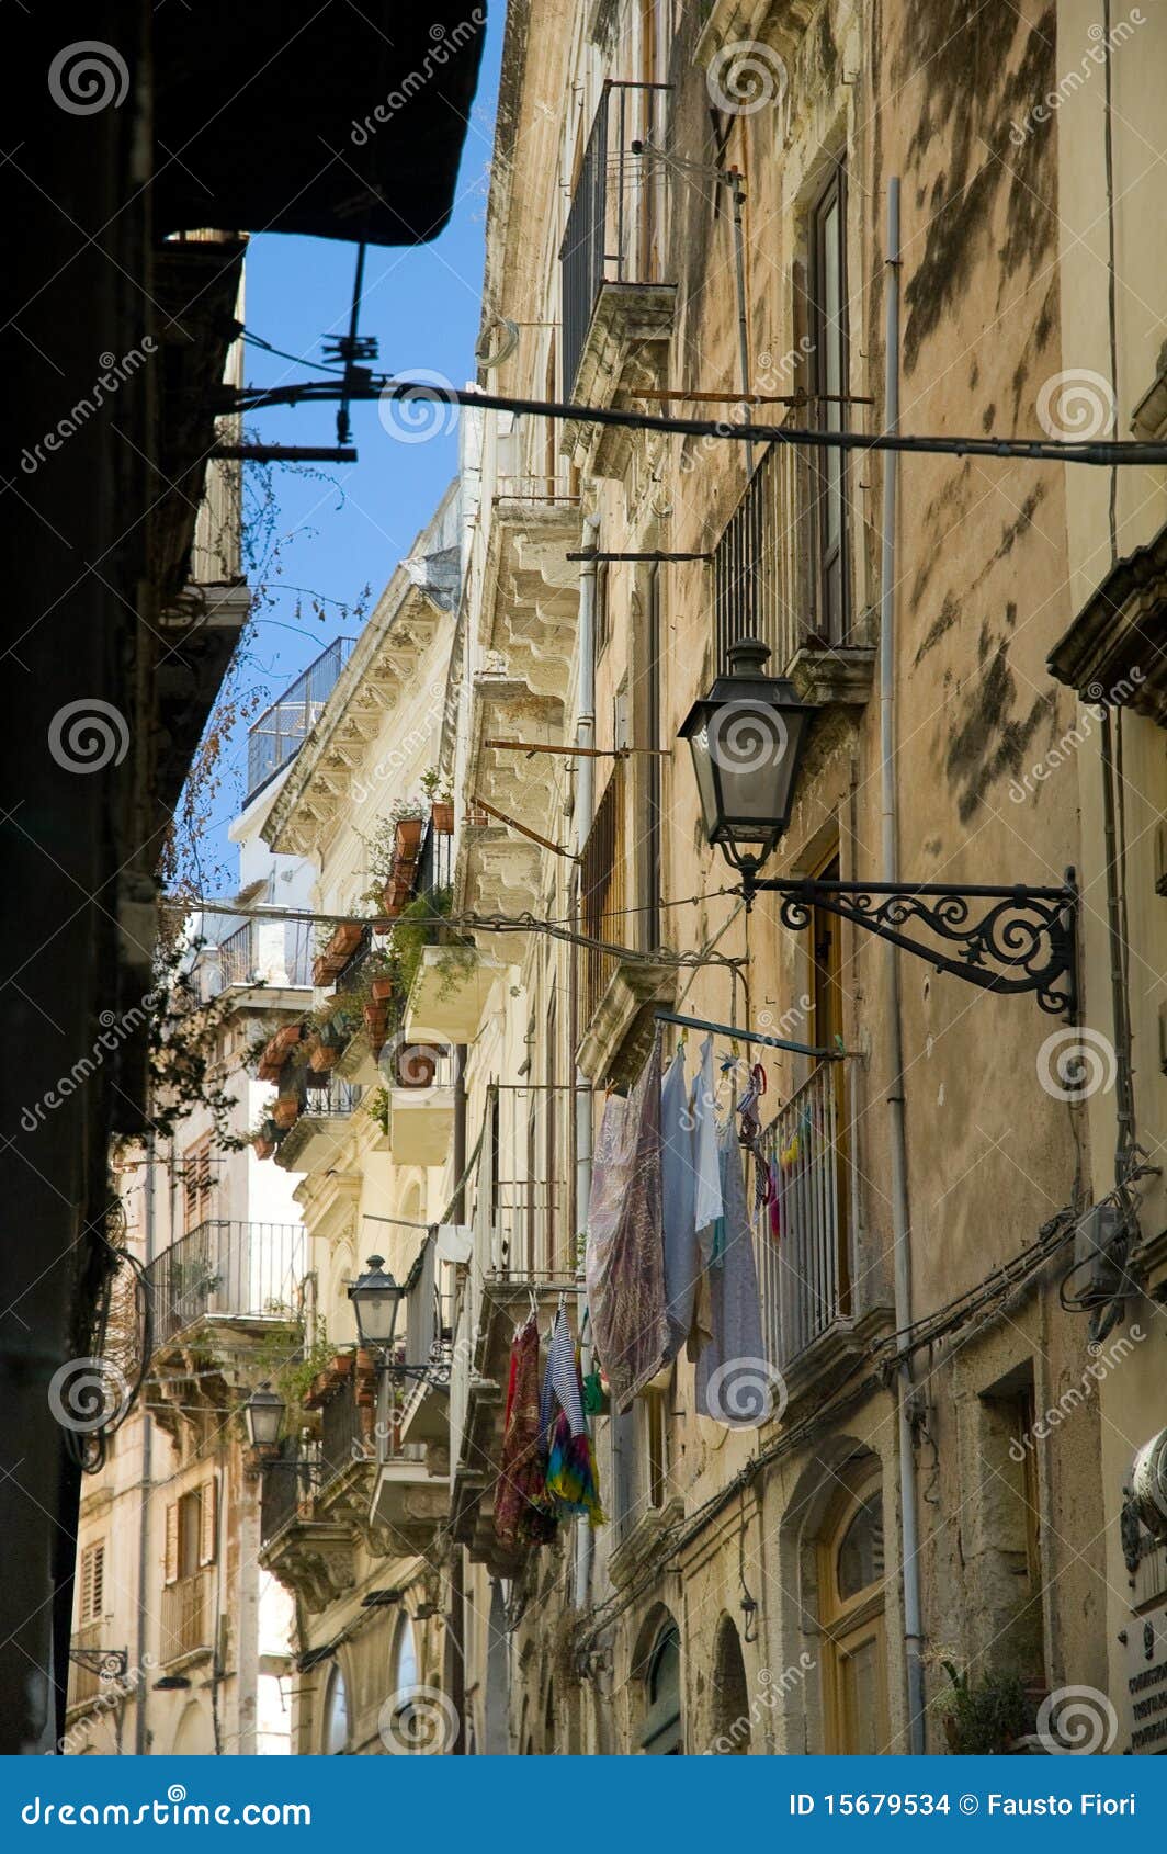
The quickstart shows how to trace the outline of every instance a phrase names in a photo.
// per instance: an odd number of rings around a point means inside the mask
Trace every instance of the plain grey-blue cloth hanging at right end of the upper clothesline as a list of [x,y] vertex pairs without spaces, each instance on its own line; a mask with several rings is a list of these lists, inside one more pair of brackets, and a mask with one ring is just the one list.
[[758,1264],[732,1122],[721,1135],[719,1159],[726,1235],[708,1270],[713,1337],[696,1361],[696,1411],[730,1428],[758,1428],[772,1415],[776,1378],[761,1339]]

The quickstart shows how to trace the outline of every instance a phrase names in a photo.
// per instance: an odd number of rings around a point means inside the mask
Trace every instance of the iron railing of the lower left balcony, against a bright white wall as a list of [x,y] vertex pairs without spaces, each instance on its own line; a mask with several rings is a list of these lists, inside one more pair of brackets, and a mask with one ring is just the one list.
[[146,1268],[154,1337],[207,1314],[293,1318],[306,1268],[302,1224],[198,1224]]

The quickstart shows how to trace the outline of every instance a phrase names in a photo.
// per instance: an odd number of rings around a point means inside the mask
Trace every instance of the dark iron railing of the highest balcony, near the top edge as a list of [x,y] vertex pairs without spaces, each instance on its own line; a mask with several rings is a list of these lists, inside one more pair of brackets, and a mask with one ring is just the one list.
[[563,391],[574,393],[604,284],[663,284],[667,83],[606,83],[559,247]]

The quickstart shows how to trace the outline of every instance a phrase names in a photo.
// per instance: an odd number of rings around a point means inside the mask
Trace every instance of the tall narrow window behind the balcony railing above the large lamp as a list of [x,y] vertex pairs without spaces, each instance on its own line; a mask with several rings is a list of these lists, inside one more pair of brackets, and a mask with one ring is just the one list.
[[[837,165],[809,215],[809,339],[817,421],[847,430],[847,171]],[[850,627],[847,560],[847,460],[817,451],[815,567],[819,632],[841,643]]]

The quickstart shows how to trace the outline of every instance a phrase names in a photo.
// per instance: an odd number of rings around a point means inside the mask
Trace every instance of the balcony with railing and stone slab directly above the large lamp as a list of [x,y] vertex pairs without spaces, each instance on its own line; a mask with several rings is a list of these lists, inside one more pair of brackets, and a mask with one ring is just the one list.
[[[847,428],[837,400],[806,402],[793,426]],[[737,638],[761,638],[769,671],[804,701],[861,705],[871,697],[874,645],[848,619],[847,495],[839,460],[772,443],[713,551],[717,662]]]

